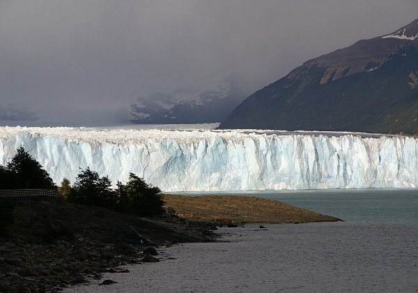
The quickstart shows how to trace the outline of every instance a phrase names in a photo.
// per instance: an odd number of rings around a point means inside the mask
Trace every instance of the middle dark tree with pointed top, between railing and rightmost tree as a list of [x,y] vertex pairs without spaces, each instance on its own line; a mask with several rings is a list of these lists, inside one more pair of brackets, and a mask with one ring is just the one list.
[[100,178],[98,172],[87,167],[81,170],[70,192],[70,201],[92,206],[114,207],[116,194],[111,190],[109,176]]

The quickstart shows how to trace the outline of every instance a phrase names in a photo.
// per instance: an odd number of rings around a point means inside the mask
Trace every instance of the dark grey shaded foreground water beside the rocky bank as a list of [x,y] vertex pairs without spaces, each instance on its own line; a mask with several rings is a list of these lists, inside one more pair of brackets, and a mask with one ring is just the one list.
[[[221,241],[163,247],[163,262],[104,274],[114,285],[92,280],[64,292],[410,292],[418,288],[416,229],[350,222],[221,227]],[[403,244],[388,250],[388,240]]]

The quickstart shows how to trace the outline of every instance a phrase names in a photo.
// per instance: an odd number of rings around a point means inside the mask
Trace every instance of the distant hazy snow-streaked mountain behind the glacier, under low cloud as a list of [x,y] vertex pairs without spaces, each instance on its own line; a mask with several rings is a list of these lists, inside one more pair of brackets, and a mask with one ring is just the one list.
[[171,93],[152,93],[131,106],[133,123],[221,122],[248,95],[234,77],[215,85],[182,87]]

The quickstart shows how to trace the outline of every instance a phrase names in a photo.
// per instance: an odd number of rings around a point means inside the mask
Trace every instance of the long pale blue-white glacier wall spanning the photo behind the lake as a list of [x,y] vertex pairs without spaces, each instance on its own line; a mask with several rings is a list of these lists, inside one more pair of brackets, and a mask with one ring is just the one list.
[[23,146],[58,185],[90,167],[164,192],[416,188],[418,140],[277,130],[0,127],[0,164]]

